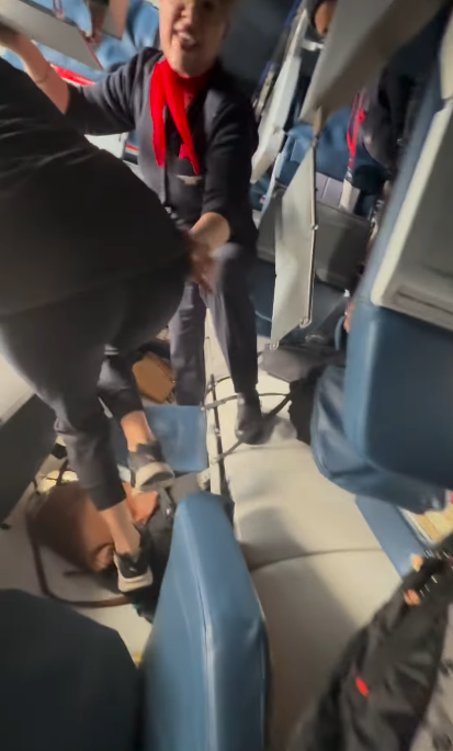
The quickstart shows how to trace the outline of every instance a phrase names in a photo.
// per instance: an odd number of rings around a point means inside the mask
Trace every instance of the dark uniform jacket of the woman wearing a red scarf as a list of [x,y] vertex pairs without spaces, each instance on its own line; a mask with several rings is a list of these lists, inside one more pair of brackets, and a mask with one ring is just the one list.
[[231,239],[254,246],[249,187],[258,133],[250,103],[217,66],[208,91],[195,98],[189,110],[202,176],[195,176],[189,159],[179,158],[181,139],[170,116],[167,165],[161,169],[152,148],[149,103],[151,74],[159,59],[160,52],[145,49],[100,83],[73,89],[67,116],[90,135],[136,130],[145,181],[184,226],[193,225],[202,214],[216,212],[228,221]]

